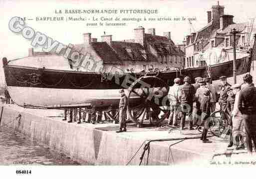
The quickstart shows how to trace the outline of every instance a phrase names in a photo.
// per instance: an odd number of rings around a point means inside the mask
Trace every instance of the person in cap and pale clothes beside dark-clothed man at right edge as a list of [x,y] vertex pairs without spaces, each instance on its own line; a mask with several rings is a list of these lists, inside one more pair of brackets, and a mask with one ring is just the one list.
[[[236,96],[235,97],[235,104],[234,104],[234,109],[231,113],[232,116],[232,124],[233,124],[233,141],[236,141],[236,150],[239,149],[245,149],[244,145],[244,137],[243,137],[243,129],[244,129],[244,122],[243,122],[243,116],[242,113],[238,109],[238,102],[239,102],[239,95],[240,95],[240,89],[241,85],[240,84],[235,84],[232,87],[233,93]],[[236,137],[239,137],[239,139],[236,139]]]

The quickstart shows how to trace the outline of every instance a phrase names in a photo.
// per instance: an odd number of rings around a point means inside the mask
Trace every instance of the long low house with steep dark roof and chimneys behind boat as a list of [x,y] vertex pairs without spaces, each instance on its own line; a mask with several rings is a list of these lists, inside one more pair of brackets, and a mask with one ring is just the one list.
[[[171,39],[171,32],[164,32],[163,36],[156,35],[155,28],[145,33],[143,27],[134,29],[134,39],[113,41],[112,35],[102,35],[101,41],[92,38],[91,33],[83,34],[84,42],[75,44],[72,51],[85,55],[85,60],[73,70],[89,71],[93,64],[96,70],[109,72],[113,67],[126,71],[148,71],[149,69],[183,68],[185,53]],[[63,52],[64,53],[64,52]],[[89,57],[86,54],[90,54]],[[47,53],[50,54],[50,53]],[[43,52],[33,52],[29,49],[29,56],[43,55]],[[69,55],[67,58],[72,55]],[[72,64],[77,60],[70,60]],[[89,64],[89,65],[88,65]]]

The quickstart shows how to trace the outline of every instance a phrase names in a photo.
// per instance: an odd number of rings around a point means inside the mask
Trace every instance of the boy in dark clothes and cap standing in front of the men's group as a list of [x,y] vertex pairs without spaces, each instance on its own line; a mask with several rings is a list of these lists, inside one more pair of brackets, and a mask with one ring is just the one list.
[[204,90],[203,95],[201,96],[201,105],[200,109],[202,111],[202,121],[204,122],[204,130],[201,136],[201,140],[203,143],[211,143],[212,141],[209,141],[207,139],[207,132],[209,129],[209,120],[210,120],[210,90]]

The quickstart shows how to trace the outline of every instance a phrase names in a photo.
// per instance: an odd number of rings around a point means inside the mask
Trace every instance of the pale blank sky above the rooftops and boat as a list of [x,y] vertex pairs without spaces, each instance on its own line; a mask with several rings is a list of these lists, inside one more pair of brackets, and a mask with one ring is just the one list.
[[[171,31],[171,38],[175,43],[181,43],[189,33],[190,25],[184,21],[129,21],[126,26],[96,26],[88,27],[85,21],[36,21],[37,16],[85,16],[87,18],[111,17],[109,14],[56,14],[61,9],[157,9],[157,14],[114,14],[113,17],[196,17],[192,24],[196,30],[207,24],[207,11],[217,0],[0,0],[0,58],[8,60],[28,55],[31,41],[20,34],[15,34],[8,28],[8,22],[13,16],[31,18],[26,25],[35,31],[46,34],[54,40],[64,44],[83,43],[83,33],[90,32],[92,37],[101,39],[104,31],[112,35],[112,40],[134,38],[134,28],[143,26],[155,28],[157,35]],[[234,21],[246,22],[256,17],[255,0],[220,0],[224,5],[225,14],[234,15]],[[89,21],[91,22],[91,21]],[[1,60],[0,60],[0,66]],[[2,68],[0,77],[2,79]],[[2,83],[2,81],[0,81]]]

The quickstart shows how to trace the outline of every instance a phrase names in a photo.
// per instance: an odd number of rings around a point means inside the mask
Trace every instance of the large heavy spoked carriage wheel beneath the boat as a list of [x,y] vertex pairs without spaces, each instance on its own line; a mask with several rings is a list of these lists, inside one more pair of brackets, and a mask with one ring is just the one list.
[[154,76],[141,77],[128,88],[128,118],[137,125],[143,125],[144,120],[158,126],[168,117],[169,86],[160,78]]

